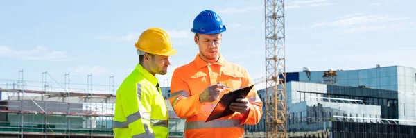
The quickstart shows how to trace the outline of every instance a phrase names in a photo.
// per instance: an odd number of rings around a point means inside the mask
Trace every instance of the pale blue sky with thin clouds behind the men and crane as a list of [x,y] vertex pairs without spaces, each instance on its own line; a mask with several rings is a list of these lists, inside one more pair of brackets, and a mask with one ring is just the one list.
[[[285,1],[286,71],[416,67],[416,0]],[[171,36],[168,74],[198,53],[192,21],[202,10],[223,19],[220,53],[252,78],[265,75],[264,1],[0,1],[0,87],[111,93],[137,65],[135,42],[150,27]],[[46,71],[47,74],[42,74]],[[46,76],[45,76],[46,75]],[[87,77],[91,75],[91,77]],[[115,87],[107,86],[114,76]],[[67,79],[68,80],[68,79]],[[6,85],[8,84],[8,85]],[[93,84],[93,85],[87,85]],[[111,90],[109,90],[111,89]]]

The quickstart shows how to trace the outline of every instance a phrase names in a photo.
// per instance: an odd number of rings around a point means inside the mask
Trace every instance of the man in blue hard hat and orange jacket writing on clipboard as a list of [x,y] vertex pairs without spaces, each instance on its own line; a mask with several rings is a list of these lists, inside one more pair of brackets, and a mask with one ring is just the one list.
[[253,81],[243,67],[220,55],[226,28],[216,12],[200,12],[193,20],[191,31],[195,33],[193,40],[199,53],[192,62],[173,71],[169,96],[177,116],[187,119],[185,137],[243,137],[243,125],[255,125],[262,116],[263,103],[254,88],[246,98],[239,98],[229,105],[233,114],[213,121],[205,120],[223,94],[253,85]]

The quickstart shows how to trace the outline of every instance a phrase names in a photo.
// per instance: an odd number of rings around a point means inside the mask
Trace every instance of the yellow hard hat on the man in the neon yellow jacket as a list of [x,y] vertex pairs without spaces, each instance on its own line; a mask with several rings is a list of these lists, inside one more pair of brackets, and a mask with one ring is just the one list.
[[154,55],[171,56],[177,53],[176,49],[172,48],[168,33],[162,28],[148,28],[141,33],[135,46],[139,51]]

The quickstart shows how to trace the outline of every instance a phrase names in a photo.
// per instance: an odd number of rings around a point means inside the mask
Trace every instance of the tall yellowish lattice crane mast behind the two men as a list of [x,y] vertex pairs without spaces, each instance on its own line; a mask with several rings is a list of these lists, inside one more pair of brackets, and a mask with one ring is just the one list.
[[284,0],[265,0],[266,137],[287,137]]

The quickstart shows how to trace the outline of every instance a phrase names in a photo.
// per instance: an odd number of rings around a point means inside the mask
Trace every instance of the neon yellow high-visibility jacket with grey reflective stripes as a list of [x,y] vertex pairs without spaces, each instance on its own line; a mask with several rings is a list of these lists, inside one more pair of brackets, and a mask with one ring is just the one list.
[[167,138],[168,119],[157,78],[137,64],[117,89],[114,138]]

